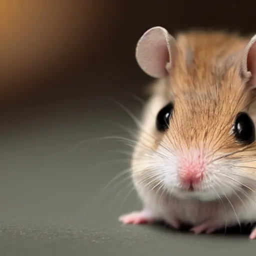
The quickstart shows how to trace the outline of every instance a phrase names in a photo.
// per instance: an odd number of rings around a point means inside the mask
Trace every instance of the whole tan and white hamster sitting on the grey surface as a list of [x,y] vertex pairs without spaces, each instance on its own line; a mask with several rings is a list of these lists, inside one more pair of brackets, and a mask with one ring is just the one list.
[[156,79],[131,159],[143,207],[119,220],[195,234],[256,221],[256,35],[156,26],[135,55]]

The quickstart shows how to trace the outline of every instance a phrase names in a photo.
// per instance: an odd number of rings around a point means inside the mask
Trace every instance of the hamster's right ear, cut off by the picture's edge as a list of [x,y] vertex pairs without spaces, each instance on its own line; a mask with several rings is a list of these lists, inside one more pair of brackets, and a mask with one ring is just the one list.
[[242,74],[256,88],[256,34],[247,43],[242,55]]

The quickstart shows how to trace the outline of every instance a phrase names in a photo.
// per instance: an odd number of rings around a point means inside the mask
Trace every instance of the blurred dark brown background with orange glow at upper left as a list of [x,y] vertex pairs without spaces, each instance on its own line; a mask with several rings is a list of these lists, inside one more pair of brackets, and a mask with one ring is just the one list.
[[255,6],[241,0],[0,0],[0,103],[141,87],[148,77],[137,67],[134,47],[146,29],[253,32]]

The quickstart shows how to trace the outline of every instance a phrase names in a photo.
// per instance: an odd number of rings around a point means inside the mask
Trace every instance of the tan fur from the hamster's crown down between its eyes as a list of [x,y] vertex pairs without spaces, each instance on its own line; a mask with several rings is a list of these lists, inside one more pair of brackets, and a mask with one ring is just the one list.
[[249,38],[224,32],[189,32],[176,38],[167,82],[155,86],[155,93],[174,98],[166,134],[170,147],[181,151],[204,145],[206,151],[222,153],[242,149],[229,131],[236,114],[247,110],[253,97],[240,72]]

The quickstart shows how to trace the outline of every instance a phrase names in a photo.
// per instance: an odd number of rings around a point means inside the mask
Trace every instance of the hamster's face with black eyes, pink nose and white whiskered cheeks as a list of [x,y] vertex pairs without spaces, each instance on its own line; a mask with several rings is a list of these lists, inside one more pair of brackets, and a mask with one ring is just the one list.
[[155,93],[144,111],[132,161],[137,190],[202,201],[253,191],[251,90],[237,77],[174,94],[169,87]]

